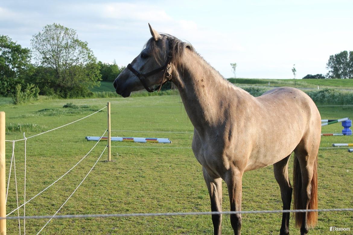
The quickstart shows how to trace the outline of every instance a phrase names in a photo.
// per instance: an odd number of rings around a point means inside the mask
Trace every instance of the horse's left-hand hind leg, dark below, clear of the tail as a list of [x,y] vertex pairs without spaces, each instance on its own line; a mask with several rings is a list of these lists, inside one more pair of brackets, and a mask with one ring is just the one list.
[[[281,190],[281,198],[283,202],[283,210],[291,209],[292,202],[292,185],[289,182],[288,178],[288,161],[289,157],[282,159],[279,162],[276,162],[273,165],[273,172],[275,174],[275,179],[280,186]],[[280,229],[280,235],[288,235],[289,234],[289,212],[282,214],[282,225]]]

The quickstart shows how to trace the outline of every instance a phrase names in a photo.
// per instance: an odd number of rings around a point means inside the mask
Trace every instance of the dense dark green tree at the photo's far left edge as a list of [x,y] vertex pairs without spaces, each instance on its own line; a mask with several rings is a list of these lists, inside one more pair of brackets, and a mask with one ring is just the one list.
[[33,69],[30,49],[0,35],[0,96],[12,96]]

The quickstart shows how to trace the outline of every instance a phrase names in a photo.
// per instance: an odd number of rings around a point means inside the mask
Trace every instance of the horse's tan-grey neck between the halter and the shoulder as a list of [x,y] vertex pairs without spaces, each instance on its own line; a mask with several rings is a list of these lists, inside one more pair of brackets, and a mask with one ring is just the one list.
[[222,78],[199,55],[189,50],[185,50],[183,60],[173,77],[187,115],[198,132],[222,125],[222,114],[225,113],[227,104],[237,99],[234,90],[236,87]]

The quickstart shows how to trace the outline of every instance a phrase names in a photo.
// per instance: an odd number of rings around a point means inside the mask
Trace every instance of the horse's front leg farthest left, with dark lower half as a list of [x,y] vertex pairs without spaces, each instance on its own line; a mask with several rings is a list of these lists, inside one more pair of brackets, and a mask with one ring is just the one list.
[[[211,211],[222,211],[222,179],[212,177],[207,170],[202,168],[208,192],[211,199]],[[222,234],[222,215],[212,215],[214,234]]]

